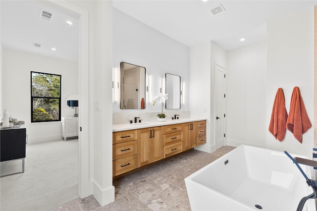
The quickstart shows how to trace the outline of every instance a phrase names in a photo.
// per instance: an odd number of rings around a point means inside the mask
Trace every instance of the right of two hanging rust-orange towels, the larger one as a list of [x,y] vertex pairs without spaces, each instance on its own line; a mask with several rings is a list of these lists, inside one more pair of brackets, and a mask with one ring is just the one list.
[[312,123],[307,115],[301,92],[298,87],[294,87],[286,128],[302,143],[302,135],[311,127]]

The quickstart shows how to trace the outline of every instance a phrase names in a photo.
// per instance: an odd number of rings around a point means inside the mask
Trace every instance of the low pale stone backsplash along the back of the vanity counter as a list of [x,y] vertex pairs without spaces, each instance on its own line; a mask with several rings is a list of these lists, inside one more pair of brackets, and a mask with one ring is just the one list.
[[[141,121],[155,121],[159,112],[127,112],[127,113],[112,113],[112,124],[129,123],[134,117],[140,117]],[[166,111],[164,110],[167,119],[172,119],[174,115],[179,115],[180,119],[189,119],[190,111]]]

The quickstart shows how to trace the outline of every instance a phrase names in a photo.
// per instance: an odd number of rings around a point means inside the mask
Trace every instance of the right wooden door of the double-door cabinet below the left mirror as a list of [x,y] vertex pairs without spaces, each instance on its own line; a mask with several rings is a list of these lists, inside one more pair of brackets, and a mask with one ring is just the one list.
[[152,128],[152,160],[151,162],[158,161],[163,158],[163,142],[162,142],[162,127]]

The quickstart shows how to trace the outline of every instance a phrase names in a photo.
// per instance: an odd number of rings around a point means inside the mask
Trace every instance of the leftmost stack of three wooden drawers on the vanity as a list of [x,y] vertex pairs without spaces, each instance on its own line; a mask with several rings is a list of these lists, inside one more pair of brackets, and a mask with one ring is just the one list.
[[112,176],[137,168],[137,130],[112,133]]

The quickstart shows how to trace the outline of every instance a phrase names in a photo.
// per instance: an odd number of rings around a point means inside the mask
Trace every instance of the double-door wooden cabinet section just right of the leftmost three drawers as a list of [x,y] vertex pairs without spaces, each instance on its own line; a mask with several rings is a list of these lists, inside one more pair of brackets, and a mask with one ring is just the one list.
[[162,127],[138,130],[138,167],[163,158]]

